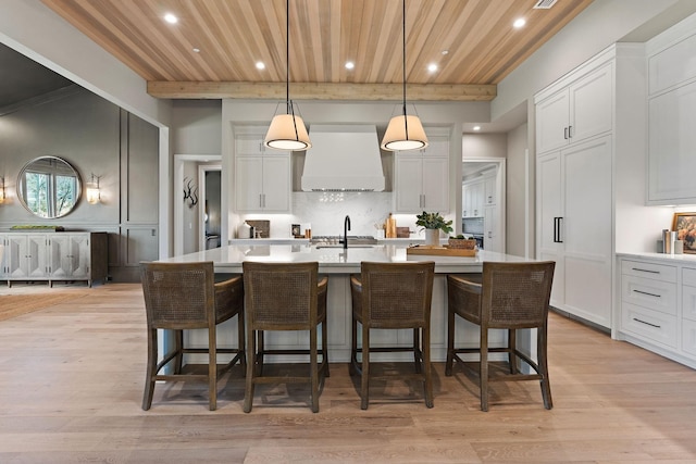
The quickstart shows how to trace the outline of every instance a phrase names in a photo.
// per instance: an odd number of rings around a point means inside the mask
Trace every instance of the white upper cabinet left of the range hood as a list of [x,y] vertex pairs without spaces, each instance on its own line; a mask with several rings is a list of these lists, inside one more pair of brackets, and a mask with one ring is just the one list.
[[235,128],[235,209],[290,212],[290,153],[263,145],[265,128]]

